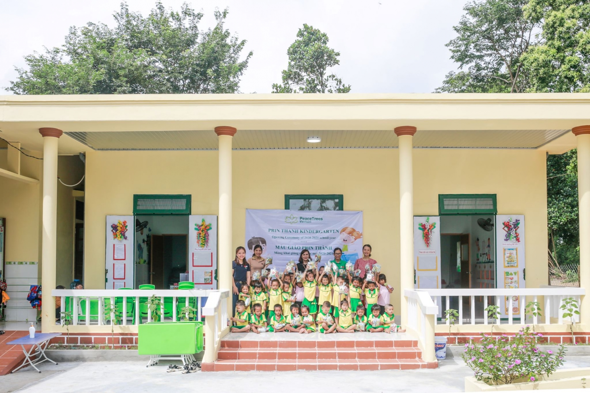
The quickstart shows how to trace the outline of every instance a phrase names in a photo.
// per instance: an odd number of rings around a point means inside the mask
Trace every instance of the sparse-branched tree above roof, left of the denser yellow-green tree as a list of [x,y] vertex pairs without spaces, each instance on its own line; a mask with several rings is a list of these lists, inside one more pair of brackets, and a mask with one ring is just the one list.
[[453,27],[446,45],[465,71],[449,72],[436,93],[521,93],[528,86],[522,55],[534,43],[539,22],[526,18],[529,0],[478,0]]

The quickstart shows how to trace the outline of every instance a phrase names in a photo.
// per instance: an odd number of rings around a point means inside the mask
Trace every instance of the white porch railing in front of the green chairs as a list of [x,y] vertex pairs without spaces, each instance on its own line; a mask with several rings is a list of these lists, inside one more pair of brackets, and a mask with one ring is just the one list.
[[[227,291],[226,291],[227,292]],[[104,315],[104,304],[116,305],[121,315],[119,325],[139,325],[145,318],[152,320],[152,313],[145,305],[146,299],[158,296],[160,299],[160,321],[176,321],[178,311],[189,306],[191,298],[196,298],[196,318],[201,320],[203,309],[202,298],[208,298],[217,290],[206,289],[53,289],[51,295],[61,298],[61,325],[64,324],[64,312],[70,313],[70,325],[113,325],[113,315]],[[184,298],[179,303],[178,298]],[[168,300],[171,299],[171,300]],[[169,306],[172,306],[171,312]],[[132,307],[132,310],[129,310]],[[145,315],[141,315],[143,309]],[[108,310],[108,308],[107,308]],[[170,315],[172,313],[172,315]],[[188,313],[186,313],[188,317]],[[180,317],[182,318],[182,316]]]

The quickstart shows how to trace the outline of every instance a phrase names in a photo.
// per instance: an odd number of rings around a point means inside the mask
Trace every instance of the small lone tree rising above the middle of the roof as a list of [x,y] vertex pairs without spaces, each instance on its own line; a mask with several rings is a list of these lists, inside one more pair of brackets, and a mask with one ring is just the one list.
[[348,93],[350,85],[330,73],[329,68],[340,64],[340,52],[328,47],[326,33],[303,25],[289,49],[289,64],[283,70],[282,84],[273,84],[273,93]]

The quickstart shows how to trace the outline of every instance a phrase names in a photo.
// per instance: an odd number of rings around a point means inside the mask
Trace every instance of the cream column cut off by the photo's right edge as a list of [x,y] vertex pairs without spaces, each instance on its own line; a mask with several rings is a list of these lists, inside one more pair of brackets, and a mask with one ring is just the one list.
[[[580,228],[580,288],[590,290],[590,126],[573,127],[578,142],[578,209]],[[580,322],[590,326],[590,293],[582,296]]]

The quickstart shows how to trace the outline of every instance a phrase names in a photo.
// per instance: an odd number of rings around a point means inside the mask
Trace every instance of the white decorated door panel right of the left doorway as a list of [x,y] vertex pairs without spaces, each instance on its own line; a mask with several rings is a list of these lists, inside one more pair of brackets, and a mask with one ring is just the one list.
[[217,289],[217,216],[189,216],[188,224],[189,280],[198,289]]

